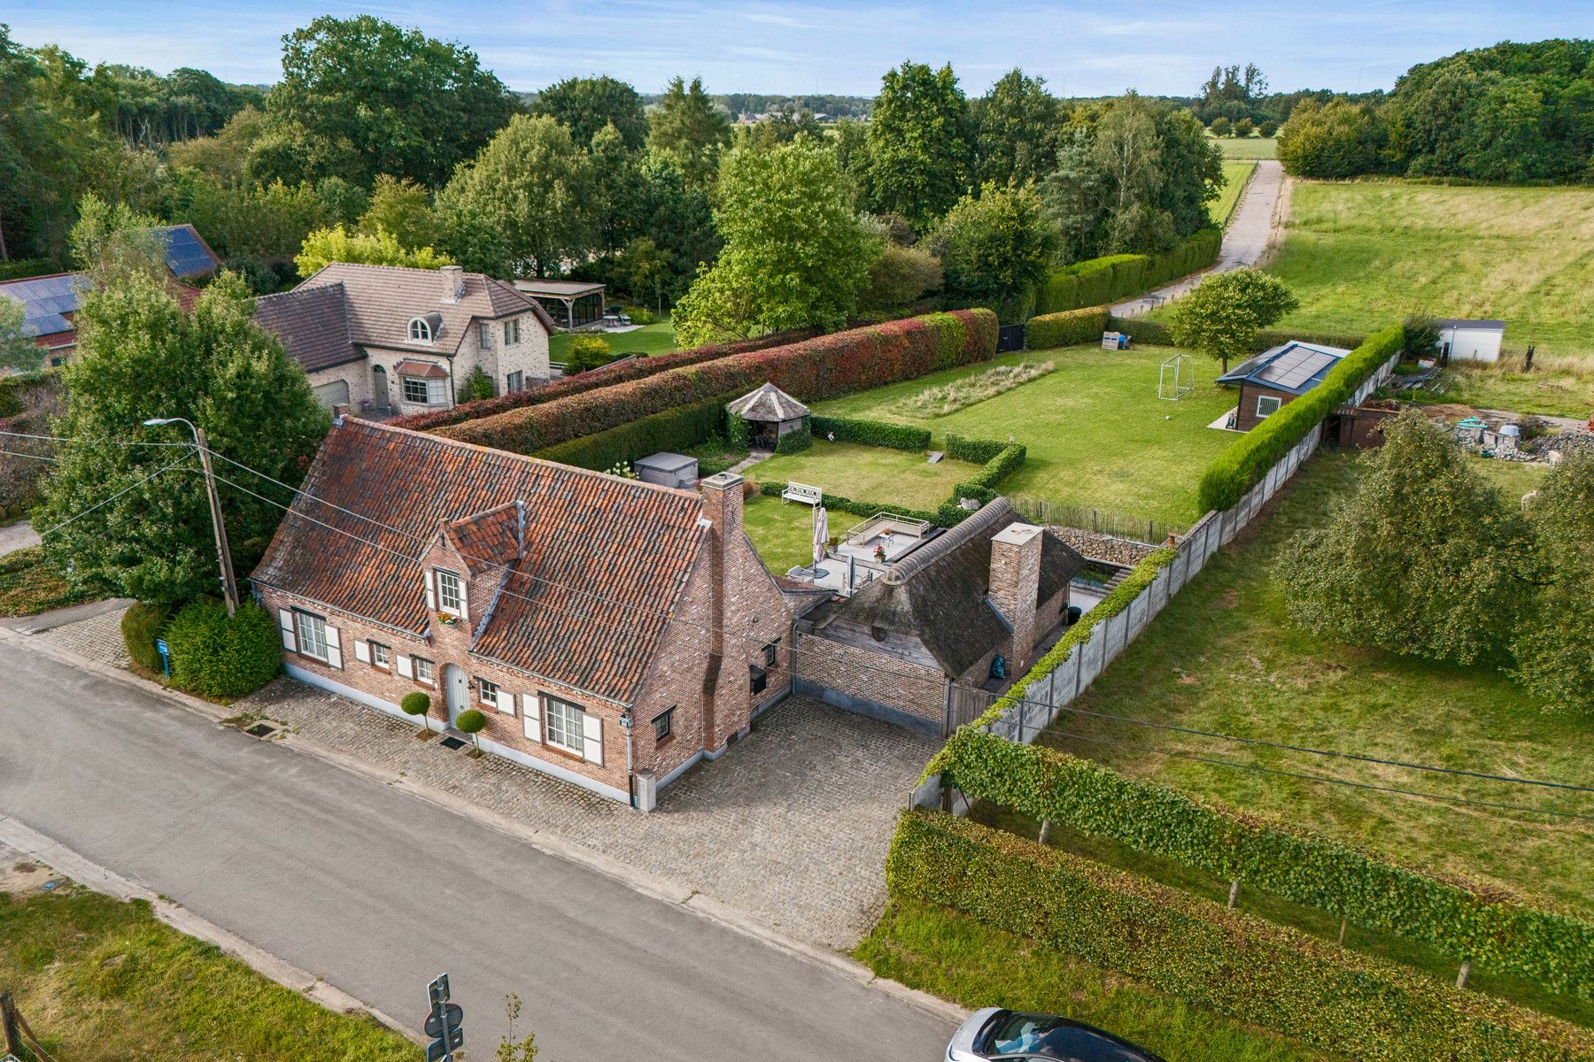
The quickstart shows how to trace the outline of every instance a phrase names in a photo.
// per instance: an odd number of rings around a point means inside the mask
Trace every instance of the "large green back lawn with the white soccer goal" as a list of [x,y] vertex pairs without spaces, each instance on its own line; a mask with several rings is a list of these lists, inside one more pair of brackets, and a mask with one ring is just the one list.
[[[1191,358],[1200,385],[1180,401],[1157,400],[1159,365],[1173,353],[1160,347],[1031,350],[819,403],[815,412],[921,424],[934,431],[936,446],[948,433],[1011,436],[1028,446],[1030,457],[1001,484],[1004,494],[1188,527],[1200,516],[1196,484],[1202,470],[1239,436],[1207,427],[1234,408],[1234,392],[1211,382],[1215,361]],[[1020,361],[1055,361],[1057,371],[945,417],[894,409],[926,387]],[[749,474],[757,479],[759,470]]]

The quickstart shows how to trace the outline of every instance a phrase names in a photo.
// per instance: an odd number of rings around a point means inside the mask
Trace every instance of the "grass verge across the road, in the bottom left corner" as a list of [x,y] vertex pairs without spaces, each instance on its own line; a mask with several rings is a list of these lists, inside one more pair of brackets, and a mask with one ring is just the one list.
[[368,1017],[336,1014],[147,903],[64,887],[0,893],[0,987],[65,1062],[413,1062],[419,1048]]

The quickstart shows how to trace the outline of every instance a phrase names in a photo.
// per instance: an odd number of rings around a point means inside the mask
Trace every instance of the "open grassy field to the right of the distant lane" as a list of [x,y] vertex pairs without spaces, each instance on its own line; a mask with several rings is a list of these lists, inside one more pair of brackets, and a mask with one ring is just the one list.
[[1508,350],[1594,360],[1591,245],[1591,188],[1298,182],[1269,271],[1301,299],[1283,328],[1503,318]]

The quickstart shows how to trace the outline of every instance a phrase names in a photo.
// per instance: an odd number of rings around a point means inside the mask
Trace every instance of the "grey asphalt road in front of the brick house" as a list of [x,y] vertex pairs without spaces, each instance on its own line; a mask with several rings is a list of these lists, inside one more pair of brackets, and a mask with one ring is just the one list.
[[0,814],[395,1017],[446,970],[475,1057],[508,992],[548,1062],[944,1057],[942,1017],[402,790],[26,642],[0,674]]

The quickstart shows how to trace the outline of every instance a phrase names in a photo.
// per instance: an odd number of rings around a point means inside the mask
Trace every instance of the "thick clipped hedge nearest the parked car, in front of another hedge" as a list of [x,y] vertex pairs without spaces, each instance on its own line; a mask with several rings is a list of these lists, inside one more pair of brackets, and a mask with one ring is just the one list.
[[1594,1057],[1586,1029],[940,812],[902,814],[886,884],[1368,1062]]

